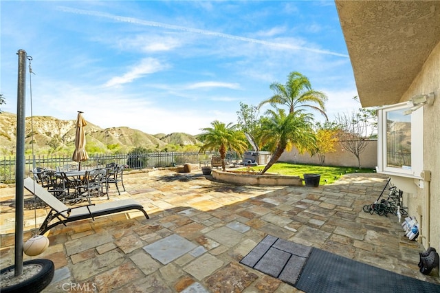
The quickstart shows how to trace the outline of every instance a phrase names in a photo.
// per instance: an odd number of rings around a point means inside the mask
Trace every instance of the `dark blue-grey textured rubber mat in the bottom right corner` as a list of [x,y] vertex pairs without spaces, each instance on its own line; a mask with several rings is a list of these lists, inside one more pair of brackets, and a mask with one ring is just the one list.
[[307,293],[440,292],[440,285],[312,248],[295,284]]

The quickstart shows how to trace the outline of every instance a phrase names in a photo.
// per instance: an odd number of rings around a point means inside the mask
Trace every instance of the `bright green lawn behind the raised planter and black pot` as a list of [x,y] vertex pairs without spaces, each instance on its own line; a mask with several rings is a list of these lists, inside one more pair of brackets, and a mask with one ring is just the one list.
[[[254,166],[250,169],[259,172],[263,171],[264,166]],[[242,168],[241,170],[247,170]],[[290,164],[290,163],[276,163],[267,173],[278,173],[281,175],[295,175],[303,178],[303,174],[314,173],[320,174],[320,185],[330,184],[338,180],[345,173],[373,173],[373,169],[358,169],[355,167],[329,167],[329,166],[314,166],[303,164]],[[327,181],[326,181],[327,180]]]

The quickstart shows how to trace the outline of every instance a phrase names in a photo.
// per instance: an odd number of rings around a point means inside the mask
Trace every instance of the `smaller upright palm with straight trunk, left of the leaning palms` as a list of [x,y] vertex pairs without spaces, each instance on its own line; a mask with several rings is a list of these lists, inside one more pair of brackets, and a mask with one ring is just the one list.
[[200,140],[203,142],[199,152],[219,150],[221,158],[221,168],[226,171],[225,158],[226,151],[236,151],[240,155],[246,150],[247,144],[243,132],[236,130],[236,125],[225,124],[215,120],[211,122],[212,127],[201,129],[203,133]]

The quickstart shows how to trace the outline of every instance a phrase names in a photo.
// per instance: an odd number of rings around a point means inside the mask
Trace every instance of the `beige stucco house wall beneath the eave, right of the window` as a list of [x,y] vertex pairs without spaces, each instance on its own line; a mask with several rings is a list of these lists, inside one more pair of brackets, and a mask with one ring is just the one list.
[[440,249],[440,43],[400,102],[430,92],[435,94],[434,105],[423,107],[423,169],[431,171],[431,181],[423,182],[424,188],[417,188],[416,194],[404,194],[404,204],[421,223],[423,246]]

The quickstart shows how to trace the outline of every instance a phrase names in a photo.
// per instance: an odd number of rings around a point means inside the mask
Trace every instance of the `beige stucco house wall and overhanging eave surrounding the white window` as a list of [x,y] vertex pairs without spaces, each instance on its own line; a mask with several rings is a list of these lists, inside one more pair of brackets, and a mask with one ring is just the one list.
[[423,106],[422,168],[431,177],[380,172],[404,191],[404,206],[421,228],[417,240],[440,250],[440,1],[335,3],[362,107],[434,92],[434,104]]

